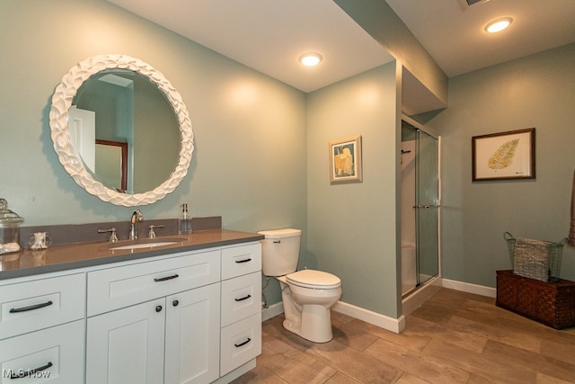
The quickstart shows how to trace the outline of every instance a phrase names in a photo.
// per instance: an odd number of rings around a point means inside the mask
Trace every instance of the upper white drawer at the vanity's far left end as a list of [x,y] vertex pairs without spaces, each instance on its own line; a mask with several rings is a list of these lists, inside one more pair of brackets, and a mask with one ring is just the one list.
[[0,339],[84,317],[85,275],[0,286]]

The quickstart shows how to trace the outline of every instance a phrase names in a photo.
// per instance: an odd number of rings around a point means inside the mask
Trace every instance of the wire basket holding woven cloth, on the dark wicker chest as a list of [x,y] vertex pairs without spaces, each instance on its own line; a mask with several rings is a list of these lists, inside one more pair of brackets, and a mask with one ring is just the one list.
[[559,243],[513,237],[509,232],[503,235],[509,248],[513,273],[539,281],[559,281],[563,246],[567,238]]

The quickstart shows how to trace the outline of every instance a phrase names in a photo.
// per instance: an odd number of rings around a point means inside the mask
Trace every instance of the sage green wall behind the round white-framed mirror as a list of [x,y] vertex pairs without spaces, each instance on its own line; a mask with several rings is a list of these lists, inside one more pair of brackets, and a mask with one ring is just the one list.
[[189,174],[140,207],[146,219],[175,218],[187,202],[225,228],[305,231],[305,94],[105,1],[1,1],[0,51],[0,197],[24,225],[129,219],[133,208],[100,201],[66,174],[48,121],[71,67],[122,53],[170,80],[195,133]]

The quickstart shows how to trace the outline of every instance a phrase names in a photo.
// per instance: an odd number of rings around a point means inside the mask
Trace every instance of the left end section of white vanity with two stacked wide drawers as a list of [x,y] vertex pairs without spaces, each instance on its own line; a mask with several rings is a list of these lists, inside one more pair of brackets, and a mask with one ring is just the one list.
[[0,281],[0,308],[0,383],[84,381],[84,273]]

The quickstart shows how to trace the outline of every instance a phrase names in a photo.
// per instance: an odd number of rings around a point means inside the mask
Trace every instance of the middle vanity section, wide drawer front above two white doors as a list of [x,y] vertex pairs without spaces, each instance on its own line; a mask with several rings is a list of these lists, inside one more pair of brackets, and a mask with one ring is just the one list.
[[219,377],[220,251],[88,272],[86,383]]

